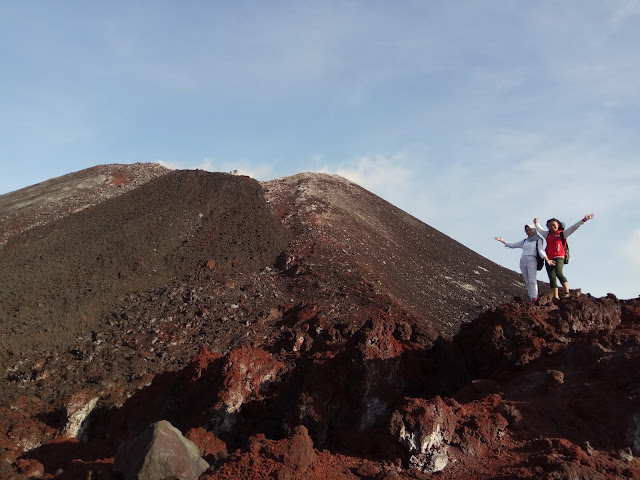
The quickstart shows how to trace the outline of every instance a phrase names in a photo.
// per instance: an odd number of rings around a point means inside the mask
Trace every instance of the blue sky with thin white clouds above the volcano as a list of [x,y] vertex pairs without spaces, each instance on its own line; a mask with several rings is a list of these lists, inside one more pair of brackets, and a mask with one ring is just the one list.
[[569,285],[635,298],[639,46],[639,0],[0,0],[0,195],[109,163],[339,174],[515,271],[494,237],[594,212]]

